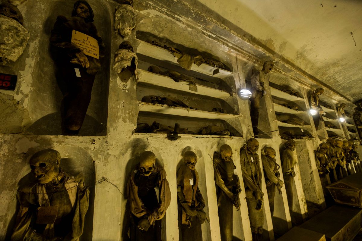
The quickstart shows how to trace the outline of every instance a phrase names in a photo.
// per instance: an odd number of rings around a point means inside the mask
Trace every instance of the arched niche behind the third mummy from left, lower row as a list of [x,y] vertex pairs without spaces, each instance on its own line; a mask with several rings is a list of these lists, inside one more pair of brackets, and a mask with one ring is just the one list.
[[[185,147],[182,147],[180,150],[178,150],[176,173],[177,173],[178,169],[181,167],[181,165],[184,164],[184,154],[186,151],[193,151],[197,156],[197,164],[195,166],[195,169],[199,175],[198,187],[199,187],[199,190],[201,191],[202,197],[205,201],[205,208],[203,209],[203,211],[206,212],[207,218],[210,219],[209,204],[208,204],[209,198],[207,197],[207,188],[206,188],[205,160],[204,160],[202,151],[198,147],[195,147],[195,146],[185,146]],[[174,193],[177,195],[177,190],[174,190]],[[179,228],[179,232],[178,232],[179,240],[182,241],[180,223],[178,224],[178,228]],[[205,221],[205,223],[203,223],[201,225],[201,230],[202,230],[202,239],[211,240],[210,223],[208,221]]]

